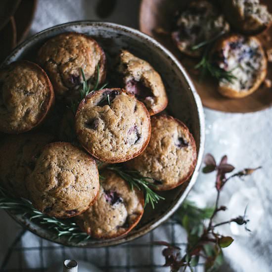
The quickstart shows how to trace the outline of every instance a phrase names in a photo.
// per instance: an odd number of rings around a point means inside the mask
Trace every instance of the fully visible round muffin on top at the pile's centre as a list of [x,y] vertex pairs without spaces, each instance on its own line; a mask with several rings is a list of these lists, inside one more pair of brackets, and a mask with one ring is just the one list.
[[139,155],[150,138],[144,104],[122,89],[104,89],[83,99],[76,113],[76,135],[102,162],[119,163]]

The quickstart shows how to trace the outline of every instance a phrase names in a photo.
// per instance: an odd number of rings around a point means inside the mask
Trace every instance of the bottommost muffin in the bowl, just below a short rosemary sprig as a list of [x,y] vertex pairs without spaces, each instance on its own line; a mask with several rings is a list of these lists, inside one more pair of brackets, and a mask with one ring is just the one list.
[[140,221],[144,196],[112,171],[102,173],[96,202],[75,218],[81,229],[94,238],[114,238],[127,234]]

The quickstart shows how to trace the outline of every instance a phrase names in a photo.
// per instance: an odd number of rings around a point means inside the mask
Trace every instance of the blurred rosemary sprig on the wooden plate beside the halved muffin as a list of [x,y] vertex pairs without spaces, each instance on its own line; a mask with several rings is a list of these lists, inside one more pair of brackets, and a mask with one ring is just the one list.
[[216,78],[218,81],[226,80],[229,83],[233,83],[237,78],[232,74],[233,70],[226,71],[214,64],[212,64],[209,60],[208,56],[209,49],[207,48],[202,56],[200,62],[194,67],[195,69],[201,70],[201,78],[203,78],[207,73],[212,77]]

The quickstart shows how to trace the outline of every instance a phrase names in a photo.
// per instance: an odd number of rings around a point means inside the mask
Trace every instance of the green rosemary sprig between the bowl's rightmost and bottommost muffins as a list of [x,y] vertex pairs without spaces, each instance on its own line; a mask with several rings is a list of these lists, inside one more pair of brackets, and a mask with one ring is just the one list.
[[107,169],[116,172],[121,178],[127,181],[130,184],[132,190],[134,187],[136,187],[137,189],[144,191],[144,207],[146,206],[146,204],[150,203],[152,208],[154,209],[155,204],[157,204],[159,200],[165,199],[150,188],[156,188],[156,185],[150,182],[153,181],[152,178],[142,177],[138,171],[124,170],[120,166],[112,165],[108,166]]

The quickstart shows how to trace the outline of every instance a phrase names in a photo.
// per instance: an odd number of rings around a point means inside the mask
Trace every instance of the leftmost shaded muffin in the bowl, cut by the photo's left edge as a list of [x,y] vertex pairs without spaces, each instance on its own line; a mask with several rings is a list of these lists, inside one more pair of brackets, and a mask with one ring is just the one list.
[[38,126],[54,101],[45,71],[30,61],[16,61],[0,70],[0,131],[19,134]]

